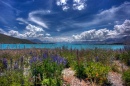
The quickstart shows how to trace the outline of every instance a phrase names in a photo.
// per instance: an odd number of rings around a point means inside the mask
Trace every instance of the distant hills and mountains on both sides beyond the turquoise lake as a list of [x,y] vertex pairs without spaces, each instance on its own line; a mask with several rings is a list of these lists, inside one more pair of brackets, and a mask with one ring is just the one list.
[[[0,33],[0,43],[5,44],[34,44],[34,43],[49,43],[38,39],[20,39],[11,36],[7,36]],[[51,42],[50,42],[51,43]],[[109,38],[104,41],[74,41],[74,44],[130,44],[130,36],[124,36],[122,38]]]

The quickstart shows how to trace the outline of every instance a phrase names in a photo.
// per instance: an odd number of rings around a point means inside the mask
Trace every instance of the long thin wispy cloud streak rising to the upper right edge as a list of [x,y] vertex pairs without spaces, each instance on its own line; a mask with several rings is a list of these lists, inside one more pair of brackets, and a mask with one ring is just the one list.
[[94,25],[102,25],[103,23],[108,25],[108,22],[124,21],[130,18],[130,2],[125,2],[117,7],[111,7],[110,9],[100,11],[96,15],[91,16],[92,19],[86,22],[76,22],[73,25],[79,27],[91,27]]

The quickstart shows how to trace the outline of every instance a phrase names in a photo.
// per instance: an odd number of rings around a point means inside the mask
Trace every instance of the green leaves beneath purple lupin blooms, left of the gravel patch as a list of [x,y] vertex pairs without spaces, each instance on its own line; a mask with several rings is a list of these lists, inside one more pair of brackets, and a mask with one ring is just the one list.
[[63,70],[63,67],[62,64],[57,64],[48,58],[43,62],[32,64],[31,71],[35,76],[40,74],[41,81],[37,80],[36,83],[41,83],[47,86],[61,86],[61,71]]

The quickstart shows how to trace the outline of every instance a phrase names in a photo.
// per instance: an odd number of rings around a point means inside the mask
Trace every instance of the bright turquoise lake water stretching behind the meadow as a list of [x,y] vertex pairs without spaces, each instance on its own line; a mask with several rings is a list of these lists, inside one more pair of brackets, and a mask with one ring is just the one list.
[[0,44],[0,49],[30,49],[30,48],[62,48],[68,49],[123,49],[124,45],[89,45],[89,44],[71,44],[71,43],[55,43],[55,44]]

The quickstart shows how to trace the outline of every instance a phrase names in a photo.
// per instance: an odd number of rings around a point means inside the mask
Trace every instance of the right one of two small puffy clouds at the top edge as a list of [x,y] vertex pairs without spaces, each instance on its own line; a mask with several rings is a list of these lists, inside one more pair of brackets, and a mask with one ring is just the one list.
[[83,10],[87,6],[87,0],[73,0],[73,9],[74,10]]

